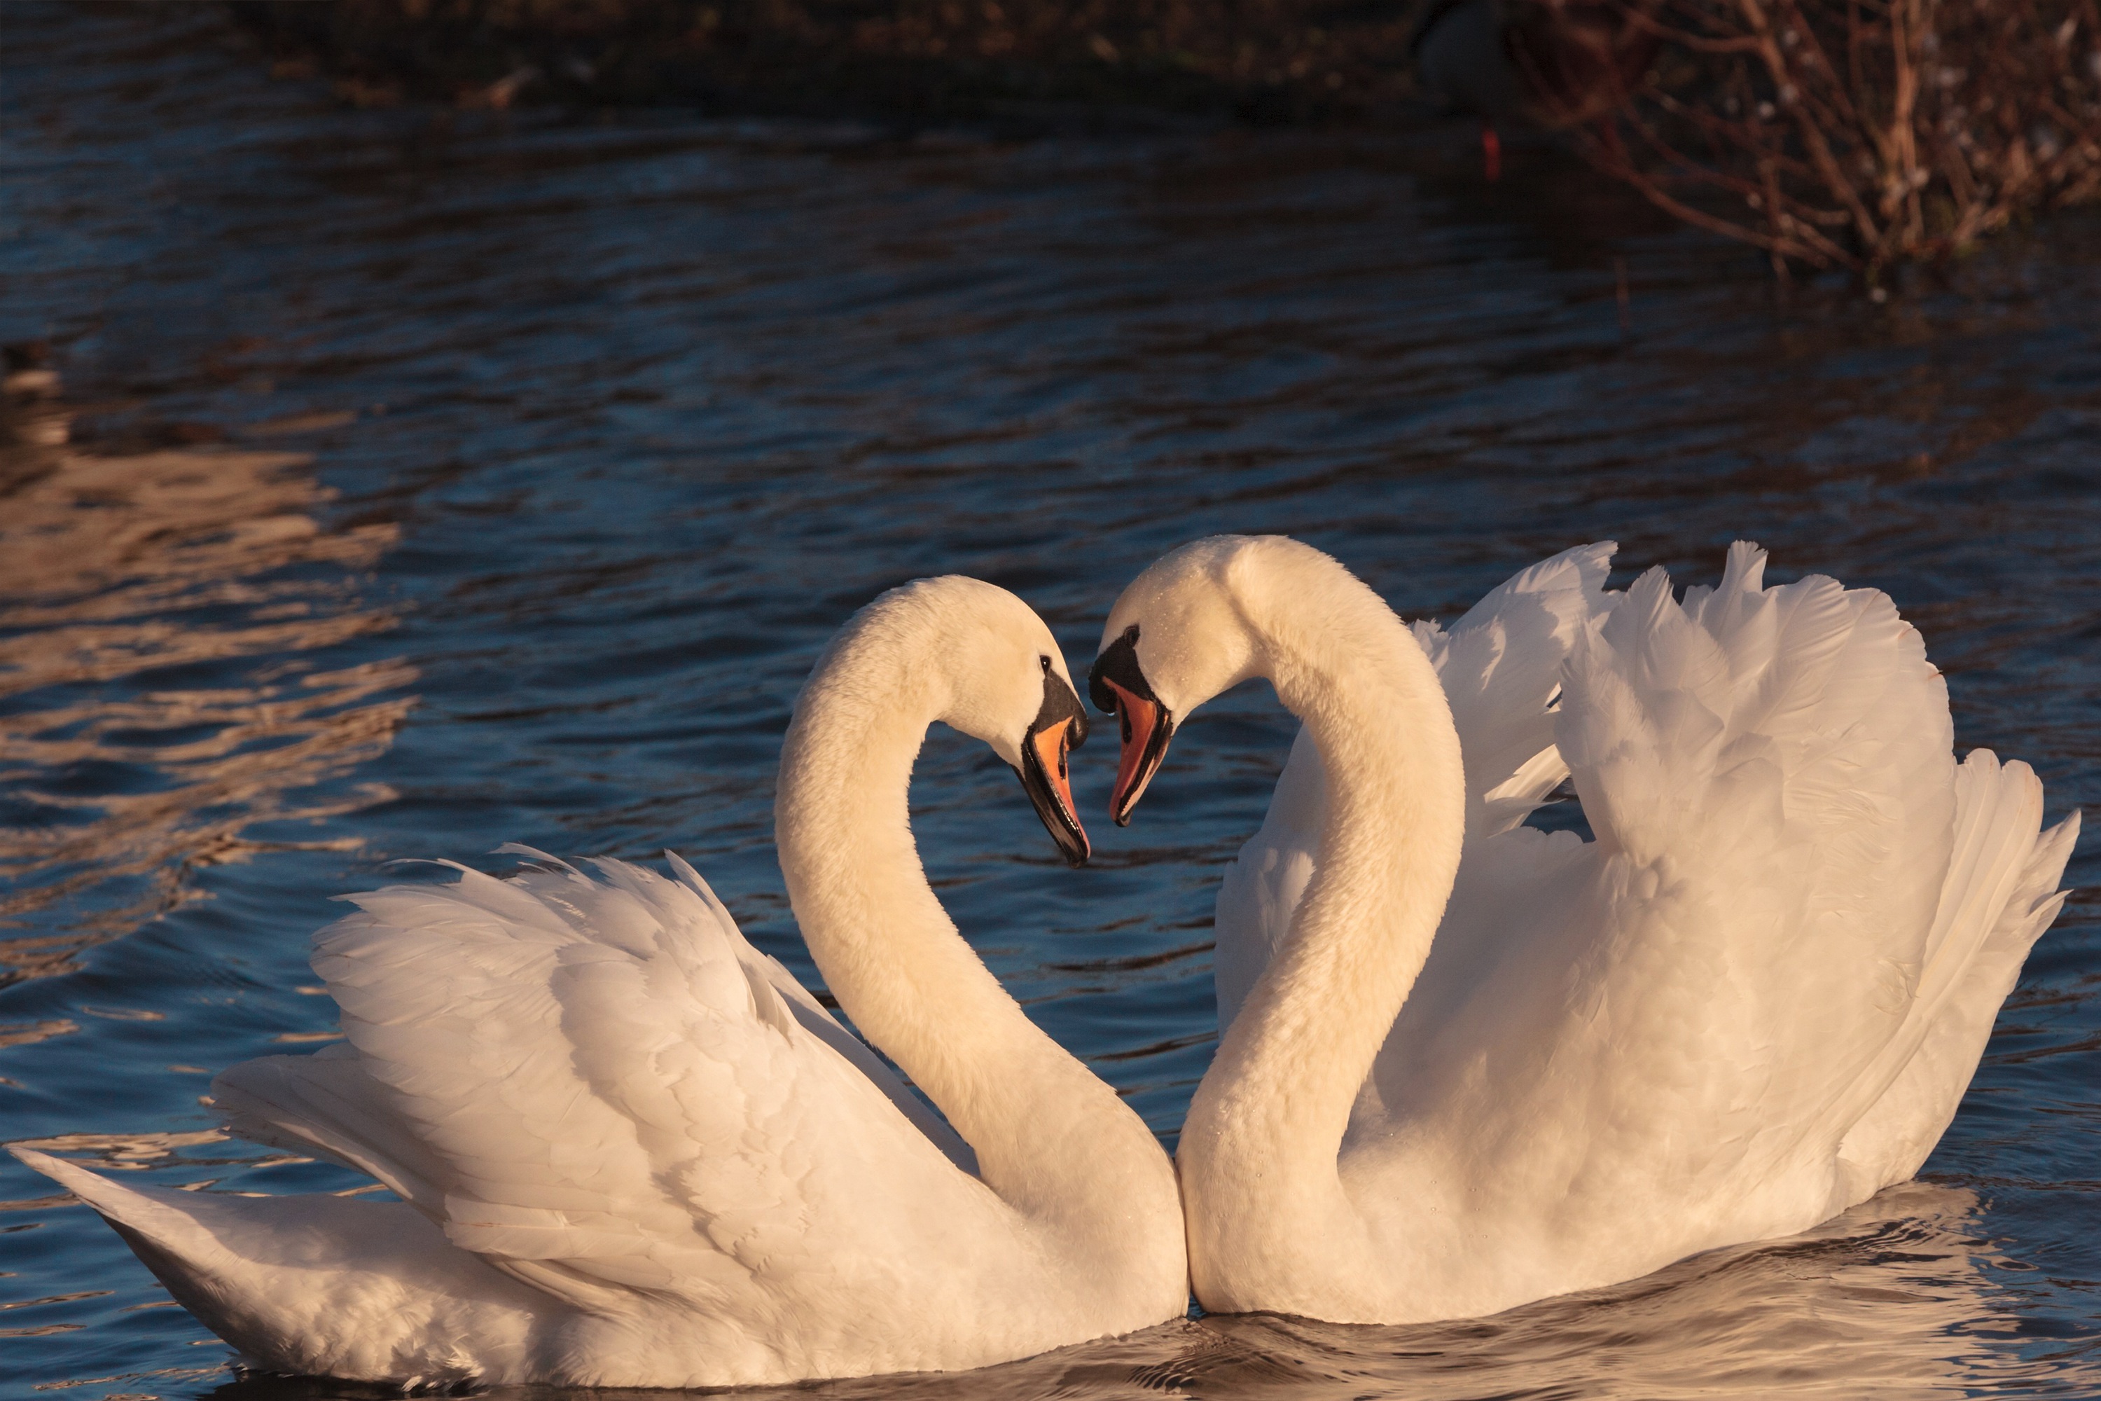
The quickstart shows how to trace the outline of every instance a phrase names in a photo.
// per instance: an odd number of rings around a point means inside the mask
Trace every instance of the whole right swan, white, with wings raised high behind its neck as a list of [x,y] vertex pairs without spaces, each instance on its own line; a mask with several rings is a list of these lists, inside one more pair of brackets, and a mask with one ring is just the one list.
[[[1181,1138],[1206,1309],[1401,1323],[1632,1279],[1834,1216],[1954,1115],[2076,819],[2040,832],[2025,765],[1954,762],[1887,597],[1763,588],[1746,544],[1683,605],[1658,569],[1603,594],[1607,555],[1420,645],[1277,538],[1185,546],[1111,611],[1118,819],[1237,681],[1305,720],[1227,880],[1227,1000],[1256,977]],[[1563,762],[1595,842],[1513,825]]]

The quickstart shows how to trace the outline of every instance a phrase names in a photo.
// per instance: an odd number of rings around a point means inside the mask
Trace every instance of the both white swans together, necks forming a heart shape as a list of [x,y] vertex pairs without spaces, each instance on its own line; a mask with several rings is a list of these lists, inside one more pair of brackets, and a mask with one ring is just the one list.
[[[1116,603],[1090,691],[1118,821],[1219,691],[1267,678],[1305,723],[1221,888],[1179,1183],[920,870],[937,718],[1086,857],[1065,664],[958,578],[849,622],[777,802],[817,968],[945,1122],[685,863],[542,857],[355,897],[315,945],[347,1040],[216,1084],[235,1132],[401,1201],[17,1153],[256,1363],[410,1382],[975,1367],[1179,1317],[1191,1281],[1212,1311],[1466,1317],[1811,1227],[1939,1138],[2076,821],[2040,832],[2023,765],[1954,762],[1882,594],[1763,588],[1750,546],[1719,590],[1614,594],[1609,552],[1450,632],[1280,538],[1185,546]],[[1565,777],[1595,842],[1521,825]]]

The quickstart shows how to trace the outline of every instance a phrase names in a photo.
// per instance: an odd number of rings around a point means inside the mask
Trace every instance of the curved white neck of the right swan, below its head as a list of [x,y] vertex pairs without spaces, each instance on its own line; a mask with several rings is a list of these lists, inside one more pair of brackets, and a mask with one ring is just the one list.
[[1443,687],[1393,611],[1326,557],[1258,559],[1269,569],[1240,569],[1231,586],[1254,670],[1319,746],[1322,863],[1219,1046],[1183,1143],[1206,1159],[1200,1174],[1256,1159],[1271,1180],[1326,1189],[1452,895],[1466,786]]

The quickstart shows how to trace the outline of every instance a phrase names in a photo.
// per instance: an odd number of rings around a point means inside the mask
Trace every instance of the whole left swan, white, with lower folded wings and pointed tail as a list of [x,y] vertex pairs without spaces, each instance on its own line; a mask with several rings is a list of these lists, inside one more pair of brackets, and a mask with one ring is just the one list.
[[777,840],[828,985],[954,1132],[670,857],[683,884],[618,861],[603,880],[462,867],[357,895],[315,937],[347,1042],[214,1092],[235,1132],[399,1204],[17,1155],[277,1372],[719,1386],[977,1367],[1181,1317],[1172,1166],[920,870],[906,790],[933,720],[1015,765],[1084,859],[1065,664],[1027,605],[962,578],[880,597],[817,662]]

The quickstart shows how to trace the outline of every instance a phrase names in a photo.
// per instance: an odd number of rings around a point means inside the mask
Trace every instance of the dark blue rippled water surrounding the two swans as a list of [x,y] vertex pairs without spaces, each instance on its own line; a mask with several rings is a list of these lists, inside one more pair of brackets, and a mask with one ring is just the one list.
[[[1622,313],[1616,271],[1626,269]],[[1874,584],[1960,744],[2101,798],[2101,221],[1889,305],[1775,298],[1464,132],[992,145],[677,113],[351,111],[204,8],[0,6],[0,1138],[342,1191],[212,1132],[212,1071],[332,1038],[307,935],[410,855],[691,857],[807,973],[771,767],[817,647],[933,571],[1084,664],[1118,588],[1290,531],[1406,615],[1551,550]],[[34,441],[34,439],[44,439]],[[1626,573],[1620,576],[1628,578]],[[937,735],[920,840],[1029,1012],[1172,1136],[1216,867],[1288,725],[1200,716],[1065,872]],[[1080,756],[1099,813],[1109,752]],[[2072,878],[2095,878],[2093,844]],[[1410,1330],[1198,1319],[843,1395],[2093,1395],[2101,941],[2076,897],[1925,1180],[1807,1237]],[[90,1212],[0,1162],[0,1397],[237,1380]]]

